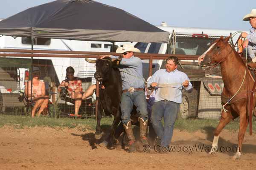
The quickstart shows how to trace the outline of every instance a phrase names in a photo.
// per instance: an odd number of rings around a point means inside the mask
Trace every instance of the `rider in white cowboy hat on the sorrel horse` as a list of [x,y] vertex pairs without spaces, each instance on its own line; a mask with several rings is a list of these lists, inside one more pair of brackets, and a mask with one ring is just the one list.
[[253,62],[256,62],[256,9],[252,9],[250,14],[244,16],[243,20],[250,21],[250,25],[252,26],[250,34],[246,32],[242,33],[242,37],[246,38],[243,43],[244,54],[247,51],[247,56],[252,58]]

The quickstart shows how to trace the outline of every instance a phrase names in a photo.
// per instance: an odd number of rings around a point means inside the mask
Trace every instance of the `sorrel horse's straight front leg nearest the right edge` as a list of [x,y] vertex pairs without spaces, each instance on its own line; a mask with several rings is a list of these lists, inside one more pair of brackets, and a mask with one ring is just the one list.
[[242,152],[242,144],[244,140],[244,134],[248,125],[248,120],[246,119],[246,108],[241,109],[240,112],[240,121],[239,121],[239,133],[238,133],[238,148],[236,154],[233,156],[233,159],[239,159]]

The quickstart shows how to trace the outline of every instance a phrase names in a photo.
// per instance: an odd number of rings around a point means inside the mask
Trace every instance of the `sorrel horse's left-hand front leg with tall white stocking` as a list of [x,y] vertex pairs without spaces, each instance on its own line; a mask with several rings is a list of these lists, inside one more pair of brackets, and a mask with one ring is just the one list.
[[221,130],[231,121],[232,118],[233,118],[233,116],[231,115],[230,108],[227,112],[224,112],[222,110],[220,122],[214,131],[212,147],[211,147],[211,151],[209,152],[210,154],[214,154],[216,152],[216,150],[218,149],[219,134],[221,133]]

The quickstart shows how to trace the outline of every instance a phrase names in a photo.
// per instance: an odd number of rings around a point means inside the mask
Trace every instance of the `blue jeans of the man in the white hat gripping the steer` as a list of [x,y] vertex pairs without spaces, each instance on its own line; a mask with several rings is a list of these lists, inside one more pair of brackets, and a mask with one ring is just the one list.
[[133,105],[137,107],[137,113],[144,121],[148,120],[147,103],[144,91],[125,92],[121,98],[121,119],[122,123],[127,125],[130,122]]

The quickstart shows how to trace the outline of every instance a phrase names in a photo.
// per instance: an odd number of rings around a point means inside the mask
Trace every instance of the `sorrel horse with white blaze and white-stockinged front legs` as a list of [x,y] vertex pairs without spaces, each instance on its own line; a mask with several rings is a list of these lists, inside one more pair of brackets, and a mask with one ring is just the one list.
[[208,68],[213,68],[215,65],[219,64],[224,82],[224,89],[221,94],[221,102],[223,105],[221,119],[214,132],[210,153],[215,153],[217,150],[219,134],[225,125],[227,125],[231,119],[240,116],[238,148],[236,154],[233,156],[233,159],[239,159],[244,134],[249,122],[249,108],[251,107],[252,110],[252,108],[255,107],[254,96],[251,97],[251,106],[249,106],[250,100],[248,96],[251,96],[250,91],[255,89],[255,87],[253,87],[254,80],[249,76],[248,68],[236,50],[228,43],[229,39],[230,37],[221,37],[216,40],[204,54],[198,57],[198,63]]

